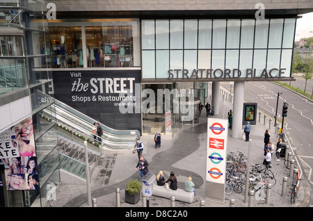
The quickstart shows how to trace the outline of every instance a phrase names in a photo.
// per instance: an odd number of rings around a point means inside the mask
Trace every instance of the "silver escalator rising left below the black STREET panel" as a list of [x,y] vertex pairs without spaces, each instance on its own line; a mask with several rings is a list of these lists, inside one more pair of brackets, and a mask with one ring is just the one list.
[[[38,95],[41,99],[47,99],[47,101],[54,99],[40,91],[38,91]],[[101,154],[129,154],[134,151],[136,140],[140,138],[140,132],[137,130],[111,129],[109,126],[100,122],[104,134],[102,135],[102,142],[99,143],[99,137],[91,133],[93,123],[97,122],[97,120],[88,117],[56,99],[54,99],[54,105],[42,111],[42,117],[54,118],[54,116],[51,115],[51,113],[54,113],[54,109],[56,113],[56,123],[59,128],[58,132],[61,132],[62,136],[72,140],[75,138],[74,141],[81,145],[83,145],[84,140],[88,140],[88,142],[90,142],[88,147]]]

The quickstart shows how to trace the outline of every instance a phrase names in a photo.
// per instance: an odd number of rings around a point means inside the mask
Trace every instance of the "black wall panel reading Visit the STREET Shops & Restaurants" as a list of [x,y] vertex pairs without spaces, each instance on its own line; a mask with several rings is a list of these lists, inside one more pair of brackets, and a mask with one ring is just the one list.
[[54,98],[112,129],[141,131],[141,71],[54,71]]

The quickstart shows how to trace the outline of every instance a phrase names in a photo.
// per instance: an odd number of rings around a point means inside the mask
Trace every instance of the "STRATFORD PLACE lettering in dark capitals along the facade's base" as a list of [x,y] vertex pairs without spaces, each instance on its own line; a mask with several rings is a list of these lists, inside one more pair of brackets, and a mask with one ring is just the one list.
[[[280,79],[285,68],[272,69],[168,69],[169,80],[196,79]],[[289,75],[289,74],[287,74]]]

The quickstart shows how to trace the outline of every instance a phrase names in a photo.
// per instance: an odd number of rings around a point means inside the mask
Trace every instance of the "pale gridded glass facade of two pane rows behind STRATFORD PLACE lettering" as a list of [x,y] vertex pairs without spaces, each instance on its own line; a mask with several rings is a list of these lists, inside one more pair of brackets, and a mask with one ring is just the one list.
[[255,69],[253,77],[273,68],[291,73],[294,18],[147,19],[141,26],[143,81],[167,79],[168,69],[240,69],[241,78],[245,69]]

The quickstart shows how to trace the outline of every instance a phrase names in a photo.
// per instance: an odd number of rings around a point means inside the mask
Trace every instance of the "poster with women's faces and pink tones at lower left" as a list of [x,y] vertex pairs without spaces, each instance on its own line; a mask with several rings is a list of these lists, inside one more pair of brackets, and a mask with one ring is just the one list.
[[0,164],[4,165],[7,190],[38,190],[32,118],[0,133]]

